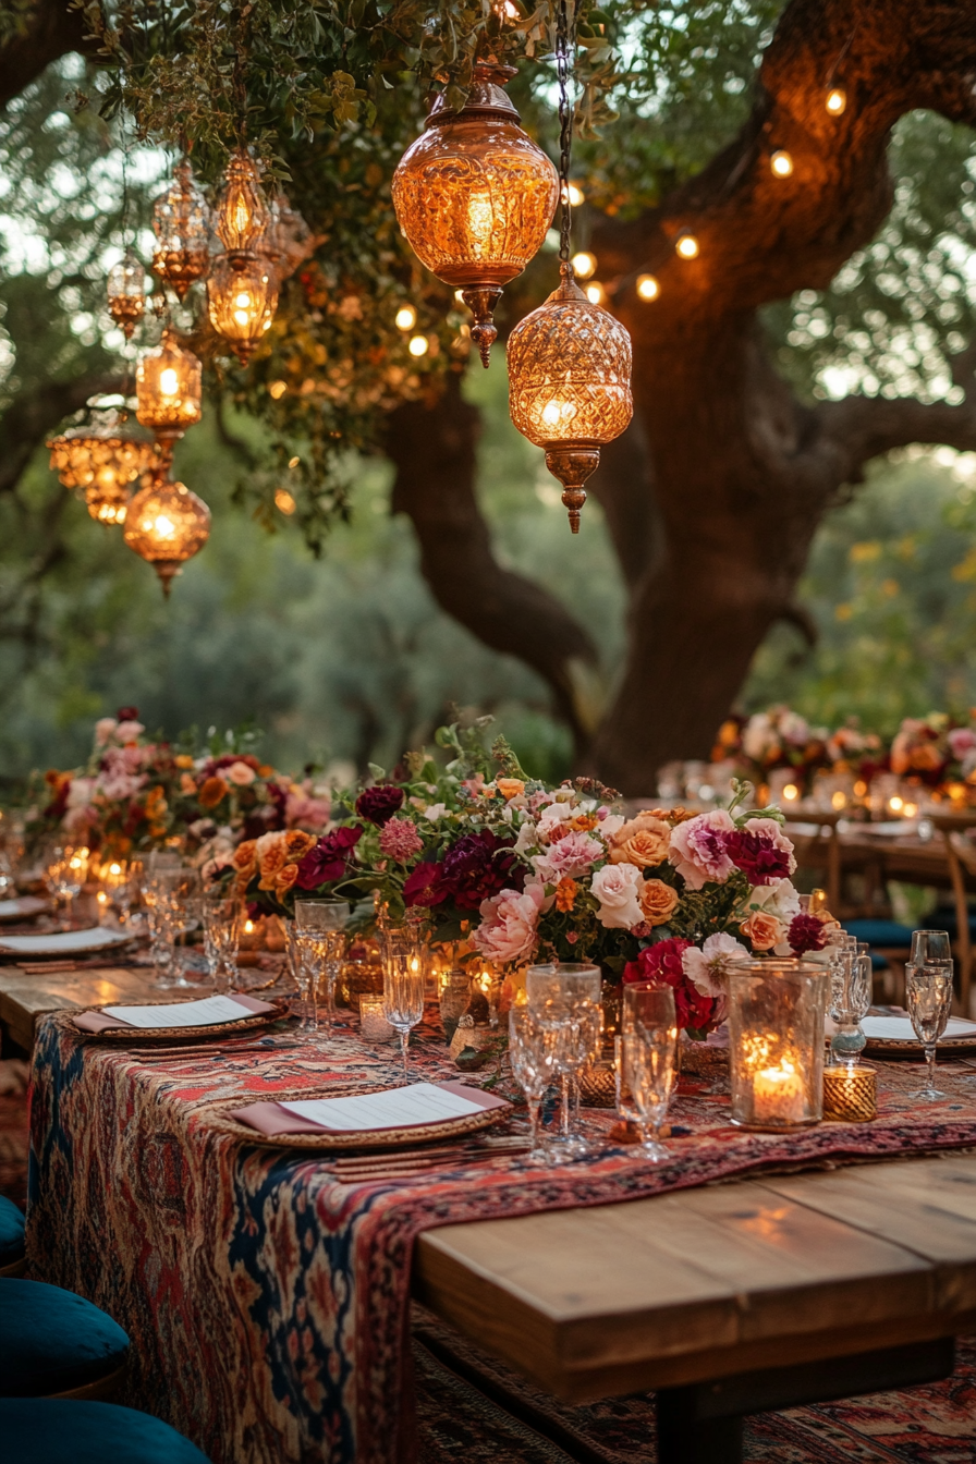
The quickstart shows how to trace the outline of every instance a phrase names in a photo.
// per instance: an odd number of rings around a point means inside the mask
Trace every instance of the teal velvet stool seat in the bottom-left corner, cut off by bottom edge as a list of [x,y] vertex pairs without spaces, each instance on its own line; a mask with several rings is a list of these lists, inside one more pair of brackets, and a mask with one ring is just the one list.
[[208,1464],[161,1419],[114,1403],[0,1400],[6,1464]]

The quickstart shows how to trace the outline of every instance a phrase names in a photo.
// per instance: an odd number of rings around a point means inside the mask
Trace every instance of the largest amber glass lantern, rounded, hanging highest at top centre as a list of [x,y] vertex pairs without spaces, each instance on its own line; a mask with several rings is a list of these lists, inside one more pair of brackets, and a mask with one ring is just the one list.
[[461,111],[439,97],[392,184],[414,253],[459,288],[474,313],[471,335],[486,366],[502,288],[538,250],[559,201],[555,167],[522,132],[502,89],[514,75],[512,67],[481,61]]

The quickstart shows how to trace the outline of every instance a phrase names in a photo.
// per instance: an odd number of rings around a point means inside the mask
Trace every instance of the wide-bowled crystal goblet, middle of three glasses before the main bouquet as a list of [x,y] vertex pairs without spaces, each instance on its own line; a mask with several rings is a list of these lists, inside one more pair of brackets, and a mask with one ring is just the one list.
[[590,1063],[600,1045],[600,969],[577,963],[530,966],[525,976],[528,1007],[547,1032],[552,1064],[559,1075],[559,1133],[549,1136],[552,1162],[578,1159],[590,1143],[569,1123],[569,1082]]

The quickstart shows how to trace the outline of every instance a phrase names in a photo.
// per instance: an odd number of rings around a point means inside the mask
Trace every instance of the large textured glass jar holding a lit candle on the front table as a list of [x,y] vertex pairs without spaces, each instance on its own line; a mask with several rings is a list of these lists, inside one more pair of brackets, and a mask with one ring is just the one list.
[[828,975],[814,962],[755,960],[729,975],[732,1121],[800,1129],[824,1116]]

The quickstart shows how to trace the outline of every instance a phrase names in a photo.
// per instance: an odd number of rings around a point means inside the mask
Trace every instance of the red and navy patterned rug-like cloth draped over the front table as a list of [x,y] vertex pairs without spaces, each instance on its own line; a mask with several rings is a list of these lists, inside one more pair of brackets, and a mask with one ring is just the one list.
[[[458,1078],[433,1026],[411,1054],[413,1076]],[[768,1165],[976,1145],[976,1073],[942,1064],[939,1078],[948,1098],[917,1105],[906,1095],[919,1067],[885,1064],[876,1121],[792,1136],[733,1129],[729,1099],[682,1078],[666,1165],[610,1148],[613,1116],[591,1110],[588,1127],[604,1143],[565,1168],[508,1157],[344,1184],[326,1155],[241,1143],[221,1113],[395,1083],[394,1048],[348,1034],[328,1056],[189,1053],[140,1066],[53,1016],[34,1057],[28,1274],[91,1297],[127,1329],[129,1401],[217,1464],[399,1464],[413,1455],[405,1340],[423,1230],[637,1199]]]

